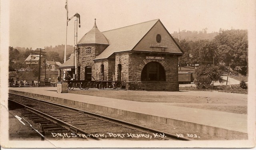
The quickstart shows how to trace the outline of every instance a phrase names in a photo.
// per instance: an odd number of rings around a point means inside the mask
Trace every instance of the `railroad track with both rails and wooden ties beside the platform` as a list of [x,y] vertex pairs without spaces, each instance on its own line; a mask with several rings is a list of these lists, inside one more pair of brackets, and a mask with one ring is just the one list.
[[33,122],[45,138],[82,140],[189,140],[64,105],[9,93],[9,109]]

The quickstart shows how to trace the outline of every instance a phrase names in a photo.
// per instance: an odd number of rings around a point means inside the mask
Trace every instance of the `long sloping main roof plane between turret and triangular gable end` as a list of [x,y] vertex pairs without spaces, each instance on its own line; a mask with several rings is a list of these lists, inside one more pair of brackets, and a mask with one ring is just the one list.
[[110,45],[95,59],[106,59],[113,53],[132,50],[158,20],[159,19],[151,20],[102,32],[108,39]]

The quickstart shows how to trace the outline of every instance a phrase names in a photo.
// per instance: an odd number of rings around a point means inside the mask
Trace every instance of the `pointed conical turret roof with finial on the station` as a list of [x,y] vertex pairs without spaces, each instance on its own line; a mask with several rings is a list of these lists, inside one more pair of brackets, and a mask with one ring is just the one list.
[[109,45],[108,39],[98,30],[96,19],[92,30],[87,32],[79,41],[78,45],[82,44],[106,44]]

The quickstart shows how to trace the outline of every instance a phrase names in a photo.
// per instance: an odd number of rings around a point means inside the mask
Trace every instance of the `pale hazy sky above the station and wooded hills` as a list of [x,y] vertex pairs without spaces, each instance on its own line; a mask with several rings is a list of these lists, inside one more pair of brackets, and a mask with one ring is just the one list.
[[[44,48],[65,44],[66,0],[9,0],[10,46]],[[160,19],[171,34],[180,29],[218,32],[248,29],[250,0],[68,0],[68,18],[80,14],[78,41],[100,31]],[[74,45],[74,20],[68,22],[67,44]]]

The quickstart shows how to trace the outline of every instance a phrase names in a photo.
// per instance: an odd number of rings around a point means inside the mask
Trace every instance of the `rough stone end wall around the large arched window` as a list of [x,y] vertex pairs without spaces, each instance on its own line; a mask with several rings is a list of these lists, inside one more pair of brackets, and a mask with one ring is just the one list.
[[[154,90],[154,91],[178,91],[178,57],[176,55],[164,55],[164,60],[146,59],[149,53],[132,53],[128,55],[129,75],[126,88],[131,90]],[[158,54],[155,54],[158,55]],[[160,63],[166,73],[166,81],[143,81],[141,73],[143,67],[152,61]]]

